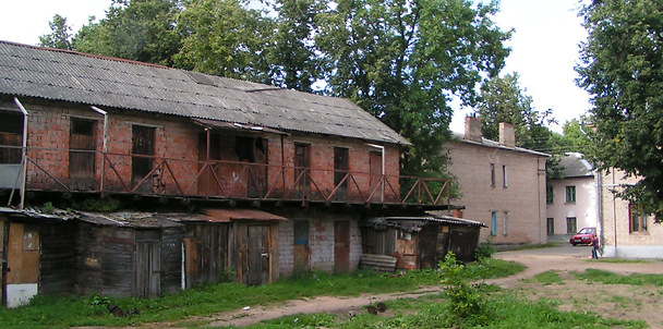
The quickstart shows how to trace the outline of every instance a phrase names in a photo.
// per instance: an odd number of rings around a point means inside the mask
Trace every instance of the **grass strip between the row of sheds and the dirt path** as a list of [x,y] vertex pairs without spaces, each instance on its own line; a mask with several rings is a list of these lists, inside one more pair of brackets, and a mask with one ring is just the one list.
[[[513,263],[489,259],[483,263],[481,269],[475,265],[469,265],[467,276],[472,279],[509,276],[517,268]],[[286,300],[320,295],[354,296],[360,293],[405,292],[438,284],[438,271],[433,269],[407,271],[402,276],[372,271],[336,276],[324,272],[304,272],[267,285],[208,284],[150,300],[111,298],[98,295],[36,296],[28,306],[14,309],[0,308],[0,327],[134,326],[146,322],[176,321],[191,316],[205,316]],[[117,305],[122,309],[136,308],[140,314],[114,317],[108,310],[108,305]]]

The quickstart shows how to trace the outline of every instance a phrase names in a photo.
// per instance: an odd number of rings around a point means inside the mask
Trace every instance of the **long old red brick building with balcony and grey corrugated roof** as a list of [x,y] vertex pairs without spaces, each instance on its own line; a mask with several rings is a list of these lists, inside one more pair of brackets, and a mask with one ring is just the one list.
[[[182,288],[224,268],[250,284],[296,268],[350,270],[362,254],[361,220],[448,207],[443,180],[399,175],[409,142],[346,99],[11,42],[0,42],[0,188],[13,206],[0,211],[0,245],[16,273],[3,276],[5,297],[8,287],[47,287],[44,259],[19,261],[38,245],[9,247],[49,230],[28,207],[45,202],[121,199],[129,211],[204,214],[49,217],[108,242],[98,253],[62,251],[79,275],[59,287],[116,295],[172,291],[164,285],[177,284],[177,273],[166,267],[177,261],[185,264]],[[63,243],[85,241],[70,237]],[[210,251],[212,240],[226,249]],[[122,259],[132,275],[144,266],[136,259],[154,270],[123,281],[130,287],[85,287],[81,273],[112,272],[109,243],[130,252]]]

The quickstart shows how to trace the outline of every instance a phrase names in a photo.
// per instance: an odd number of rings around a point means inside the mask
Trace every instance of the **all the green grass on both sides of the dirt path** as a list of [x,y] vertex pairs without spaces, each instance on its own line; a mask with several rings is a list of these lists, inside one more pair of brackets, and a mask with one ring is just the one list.
[[[468,279],[510,276],[522,267],[507,261],[489,259],[481,266],[470,265],[462,276]],[[614,282],[622,284],[659,285],[662,276],[616,276],[588,270],[574,273],[574,280]],[[439,285],[437,270],[409,271],[402,276],[354,272],[332,276],[320,272],[299,273],[274,284],[245,287],[222,283],[200,287],[159,298],[108,298],[105,296],[38,296],[25,307],[0,308],[1,328],[69,328],[83,326],[140,326],[149,322],[171,322],[176,327],[205,327],[208,321],[183,321],[192,316],[207,316],[239,309],[246,305],[277,305],[293,298],[320,295],[353,296],[360,293],[412,291],[426,285]],[[534,280],[559,284],[556,272],[545,272]],[[588,312],[559,310],[558,302],[542,298],[528,301],[497,287],[472,287],[481,301],[475,317],[454,318],[449,296],[431,294],[420,298],[386,302],[387,312],[372,315],[358,312],[348,315],[294,315],[261,322],[251,328],[646,328],[642,321],[614,320]],[[140,314],[116,317],[108,306],[137,309]]]

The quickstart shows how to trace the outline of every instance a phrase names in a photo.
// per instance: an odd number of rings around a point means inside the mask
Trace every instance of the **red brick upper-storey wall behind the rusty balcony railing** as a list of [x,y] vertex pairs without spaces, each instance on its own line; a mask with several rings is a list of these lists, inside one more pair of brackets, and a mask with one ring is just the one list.
[[[69,179],[69,133],[71,118],[82,118],[96,120],[96,148],[103,149],[104,117],[86,106],[22,99],[23,105],[28,111],[28,147],[33,149],[28,157],[34,159],[43,169],[52,176],[68,184]],[[15,108],[13,102],[2,103],[5,108]],[[200,157],[198,135],[204,133],[203,127],[193,124],[189,119],[178,117],[165,117],[144,112],[104,109],[108,111],[108,161],[103,160],[101,154],[96,155],[96,176],[98,186],[100,183],[101,171],[105,167],[105,191],[120,192],[124,185],[131,187],[131,150],[132,150],[132,126],[145,125],[155,127],[155,159],[154,166],[162,163],[166,159],[168,167],[162,168],[160,190],[155,193],[166,194],[196,194],[198,183],[196,174],[204,162],[205,155]],[[263,137],[267,139],[268,182],[276,190],[272,196],[282,195],[282,181],[285,179],[288,187],[292,187],[294,181],[294,170],[285,170],[285,178],[281,175],[282,159],[287,167],[294,164],[294,145],[303,143],[310,145],[311,149],[311,195],[313,199],[320,199],[317,190],[323,195],[328,195],[334,188],[334,148],[343,147],[349,149],[349,170],[352,172],[354,181],[348,183],[350,196],[359,196],[358,187],[361,188],[363,197],[369,193],[369,163],[370,151],[379,150],[367,143],[340,137],[329,137],[311,134],[293,134],[281,137],[276,134],[244,134],[244,132],[219,131],[221,135],[221,151],[217,158],[221,161],[238,161],[234,151],[234,139],[238,134],[244,136]],[[281,144],[282,139],[282,144]],[[281,149],[284,153],[281,153]],[[399,173],[399,149],[397,146],[386,146],[385,173],[389,183],[398,193]],[[106,162],[106,163],[105,163]],[[112,163],[110,166],[109,163]],[[248,186],[248,175],[245,170],[246,162],[219,162],[217,163],[217,175],[221,181],[224,193],[232,191],[232,196],[245,197]],[[63,190],[41,170],[35,166],[28,166],[28,188],[57,188]],[[172,174],[171,174],[172,172]],[[174,176],[174,179],[172,178]],[[213,180],[212,175],[205,179]],[[152,183],[157,183],[150,179]],[[176,184],[177,181],[177,184]],[[178,185],[179,184],[179,188]],[[216,184],[216,181],[213,182]],[[357,184],[357,185],[355,185]],[[389,187],[385,188],[388,194],[393,194]],[[293,194],[290,195],[294,197]],[[391,198],[387,197],[387,200]],[[377,200],[377,199],[373,199]]]

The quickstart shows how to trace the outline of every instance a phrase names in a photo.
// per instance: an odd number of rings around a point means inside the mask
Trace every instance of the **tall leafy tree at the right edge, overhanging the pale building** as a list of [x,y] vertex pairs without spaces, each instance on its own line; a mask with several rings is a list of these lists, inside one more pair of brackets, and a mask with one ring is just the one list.
[[594,0],[582,8],[589,36],[578,85],[592,95],[592,157],[637,176],[622,194],[663,219],[663,2]]

